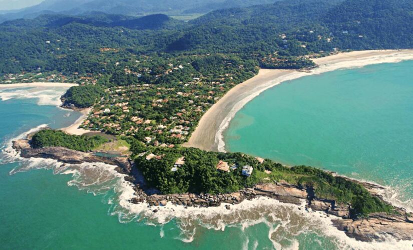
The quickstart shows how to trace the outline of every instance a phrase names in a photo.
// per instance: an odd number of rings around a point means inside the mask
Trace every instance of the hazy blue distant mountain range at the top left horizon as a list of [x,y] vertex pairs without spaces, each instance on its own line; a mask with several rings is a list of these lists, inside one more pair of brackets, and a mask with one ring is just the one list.
[[0,15],[0,22],[18,18],[34,18],[41,14],[78,15],[92,11],[134,16],[153,13],[193,14],[274,1],[276,0],[45,0],[32,7],[8,11]]

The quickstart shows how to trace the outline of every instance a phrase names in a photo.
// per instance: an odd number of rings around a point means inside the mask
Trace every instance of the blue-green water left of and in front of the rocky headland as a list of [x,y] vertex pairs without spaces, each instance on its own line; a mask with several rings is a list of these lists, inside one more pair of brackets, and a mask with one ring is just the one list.
[[[59,94],[56,91],[54,95]],[[49,95],[54,96],[53,92]],[[4,147],[31,128],[42,124],[64,127],[79,117],[77,112],[39,105],[38,98],[22,96],[0,101]],[[54,161],[8,157],[3,154],[0,161],[0,249],[336,248],[337,240],[310,230],[305,218],[289,214],[291,207],[256,207],[230,213],[227,218],[211,215],[202,221],[215,225],[225,224],[223,219],[232,221],[225,230],[201,226],[198,218],[190,216],[156,223],[120,208],[121,178],[106,166],[65,168]],[[279,216],[274,213],[277,209]],[[270,230],[276,244],[269,238]]]

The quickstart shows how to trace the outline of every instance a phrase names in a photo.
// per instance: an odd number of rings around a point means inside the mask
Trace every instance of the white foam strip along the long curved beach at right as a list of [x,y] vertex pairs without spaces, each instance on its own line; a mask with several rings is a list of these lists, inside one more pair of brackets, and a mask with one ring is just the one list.
[[333,71],[337,69],[348,69],[348,68],[358,68],[364,67],[370,64],[379,64],[379,63],[396,63],[404,60],[413,60],[413,52],[412,53],[402,53],[402,52],[395,52],[393,54],[387,55],[376,55],[370,56],[366,58],[360,58],[357,60],[351,61],[341,61],[331,64],[325,64],[318,68],[312,69],[310,72],[302,72],[302,71],[293,71],[289,74],[277,77],[276,79],[270,80],[265,82],[264,84],[257,86],[254,88],[252,93],[245,98],[238,101],[228,113],[228,115],[222,120],[217,133],[215,134],[215,144],[218,146],[218,151],[225,152],[225,141],[223,133],[228,128],[230,121],[234,118],[235,114],[248,102],[252,99],[257,97],[260,93],[267,90],[268,88],[274,87],[282,82],[297,79],[303,76],[313,75],[313,74],[321,74],[328,71]]

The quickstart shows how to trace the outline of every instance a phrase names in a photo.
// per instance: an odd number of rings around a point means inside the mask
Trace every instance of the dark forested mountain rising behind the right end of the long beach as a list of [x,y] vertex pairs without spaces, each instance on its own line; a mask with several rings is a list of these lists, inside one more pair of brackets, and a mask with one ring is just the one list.
[[[236,51],[262,46],[261,41],[268,49],[292,50],[293,46],[297,53],[333,47],[411,47],[412,4],[408,0],[290,0],[217,10],[191,21],[193,26],[169,49]],[[281,34],[287,39],[281,41]]]

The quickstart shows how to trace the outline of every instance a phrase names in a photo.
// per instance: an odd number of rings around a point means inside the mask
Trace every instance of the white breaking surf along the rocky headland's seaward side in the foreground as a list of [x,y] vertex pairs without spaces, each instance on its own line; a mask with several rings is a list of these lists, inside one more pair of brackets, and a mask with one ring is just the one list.
[[[109,214],[117,216],[119,222],[141,222],[148,226],[161,226],[159,237],[167,232],[163,224],[173,221],[180,229],[176,237],[183,242],[192,242],[200,228],[224,231],[227,227],[239,228],[244,238],[244,249],[261,248],[260,242],[248,234],[248,228],[257,224],[265,224],[268,228],[268,239],[275,249],[298,249],[300,236],[310,234],[322,238],[313,240],[317,248],[340,249],[411,249],[413,241],[389,239],[387,242],[359,242],[348,238],[344,232],[332,226],[331,218],[322,212],[305,209],[305,201],[300,205],[284,204],[268,197],[245,200],[227,209],[224,204],[219,207],[196,208],[177,206],[168,202],[165,206],[148,207],[148,204],[133,204],[129,200],[134,197],[134,189],[130,182],[124,180],[124,174],[118,173],[115,166],[104,163],[65,164],[53,159],[30,158],[20,156],[12,148],[12,141],[25,137],[47,124],[40,125],[13,139],[10,139],[2,150],[2,163],[19,162],[10,174],[33,169],[50,169],[54,174],[71,175],[68,185],[77,186],[80,190],[94,195],[104,195],[105,202],[111,204]],[[154,209],[158,212],[153,212]],[[326,243],[328,242],[328,243]]]

